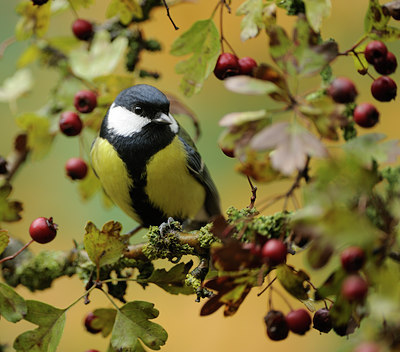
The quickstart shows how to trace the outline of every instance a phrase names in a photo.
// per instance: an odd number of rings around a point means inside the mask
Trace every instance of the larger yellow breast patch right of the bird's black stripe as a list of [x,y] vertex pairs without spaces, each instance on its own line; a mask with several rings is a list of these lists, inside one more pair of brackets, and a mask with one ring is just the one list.
[[185,148],[178,137],[147,164],[146,193],[172,217],[194,218],[204,204],[205,190],[186,165]]

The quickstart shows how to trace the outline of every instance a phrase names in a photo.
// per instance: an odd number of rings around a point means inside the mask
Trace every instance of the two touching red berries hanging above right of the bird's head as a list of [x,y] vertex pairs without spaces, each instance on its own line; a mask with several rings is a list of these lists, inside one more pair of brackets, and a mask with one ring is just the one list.
[[221,80],[237,75],[251,76],[256,67],[256,61],[249,56],[239,59],[234,54],[222,53],[217,59],[214,75]]

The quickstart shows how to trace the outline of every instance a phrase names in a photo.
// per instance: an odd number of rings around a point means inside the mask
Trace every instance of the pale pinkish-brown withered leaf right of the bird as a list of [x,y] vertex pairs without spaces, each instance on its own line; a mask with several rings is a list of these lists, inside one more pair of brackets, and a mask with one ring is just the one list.
[[258,151],[272,150],[271,164],[275,170],[290,176],[303,170],[308,156],[326,157],[326,147],[299,124],[277,122],[257,133],[250,143]]

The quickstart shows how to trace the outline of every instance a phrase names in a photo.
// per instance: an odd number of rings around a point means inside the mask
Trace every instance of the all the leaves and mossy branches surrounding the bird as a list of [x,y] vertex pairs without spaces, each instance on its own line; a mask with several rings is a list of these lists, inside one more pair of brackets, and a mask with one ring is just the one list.
[[[16,6],[13,40],[27,43],[27,48],[17,60],[16,72],[0,84],[0,101],[9,103],[21,130],[10,156],[0,158],[0,221],[4,226],[0,229],[0,264],[5,281],[0,283],[0,314],[10,323],[26,320],[37,325],[15,339],[15,350],[55,351],[66,312],[81,300],[88,303],[95,289],[114,307],[94,311],[93,328],[103,337],[110,336],[108,351],[145,351],[159,350],[168,334],[152,321],[159,314],[153,303],[126,301],[128,283],[143,288],[157,285],[174,295],[196,294],[197,300],[204,299],[201,315],[223,308],[225,316],[232,316],[251,290],[263,286],[260,294],[269,290],[269,309],[273,310],[272,294],[280,292],[275,282],[283,287],[284,295],[298,299],[309,311],[329,306],[338,335],[361,330],[362,339],[399,349],[399,290],[393,284],[398,281],[400,262],[400,167],[394,164],[400,154],[399,141],[385,141],[380,133],[358,136],[353,120],[357,103],[338,102],[329,91],[335,79],[334,61],[354,60],[355,73],[365,76],[362,79],[373,77],[374,64],[368,63],[365,55],[367,42],[399,39],[400,28],[392,24],[399,1],[383,6],[378,0],[369,0],[362,37],[340,52],[339,43],[321,33],[335,6],[330,0],[216,0],[210,17],[178,32],[169,52],[181,60],[176,72],[182,75],[182,93],[189,97],[203,88],[219,55],[225,52],[224,45],[233,51],[222,22],[223,16],[232,12],[232,5],[241,17],[243,41],[266,33],[273,64],[260,63],[246,75],[231,72],[233,77],[224,80],[225,89],[233,96],[265,97],[265,106],[229,112],[220,120],[224,130],[219,146],[238,160],[237,171],[248,178],[249,206],[231,207],[227,219],[213,219],[190,233],[177,222],[153,226],[146,241],[139,244],[130,244],[130,234],[123,234],[118,222],[109,221],[100,229],[88,221],[82,243],[74,248],[33,255],[26,249],[30,243],[22,245],[5,229],[7,223],[21,220],[23,205],[10,198],[15,172],[27,160],[35,162],[52,150],[60,135],[59,115],[75,109],[78,90],[89,89],[97,96],[95,109],[81,116],[83,133],[92,137],[119,91],[137,83],[138,78],[158,78],[158,72],[142,67],[141,57],[162,46],[158,40],[146,38],[141,23],[152,21],[152,11],[162,5],[173,23],[166,2],[111,0],[106,21],[95,23],[93,35],[80,41],[72,33],[53,36],[50,21],[68,11],[76,14],[81,8],[90,8],[94,0],[35,2],[39,1],[22,0]],[[168,4],[180,2],[183,0]],[[280,16],[294,16],[291,33],[279,24]],[[38,111],[17,114],[17,101],[35,87],[36,77],[30,69],[34,64],[53,70],[57,78]],[[315,89],[299,92],[297,83],[306,77],[314,78]],[[171,111],[189,115],[197,123],[182,103],[171,98],[171,105]],[[79,138],[82,142],[85,137]],[[81,154],[85,159],[85,153]],[[286,192],[258,199],[252,181],[282,179],[291,182]],[[92,171],[77,183],[83,200],[102,192]],[[268,214],[269,206],[278,201],[283,201],[282,211]],[[262,251],[271,239],[284,243],[289,258],[304,252],[306,268],[286,261],[271,264]],[[342,250],[350,246],[360,247],[366,256],[357,275],[367,282],[367,299],[351,301],[343,291],[346,278],[354,273],[346,272],[339,259]],[[198,264],[194,266],[192,259],[183,261],[188,255],[196,256]],[[158,259],[167,259],[173,266],[156,269],[154,261]],[[329,273],[316,286],[314,271],[324,267]],[[61,276],[76,276],[85,286],[84,295],[64,309],[25,300],[14,289],[23,285],[31,291],[44,290]],[[362,321],[366,323],[361,326]]]

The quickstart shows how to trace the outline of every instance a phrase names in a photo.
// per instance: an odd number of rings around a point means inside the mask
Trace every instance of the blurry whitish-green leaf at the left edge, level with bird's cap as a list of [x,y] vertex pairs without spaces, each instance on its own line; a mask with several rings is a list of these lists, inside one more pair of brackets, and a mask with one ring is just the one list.
[[33,87],[32,73],[28,69],[21,69],[13,76],[6,78],[0,87],[0,101],[15,103],[22,95]]

